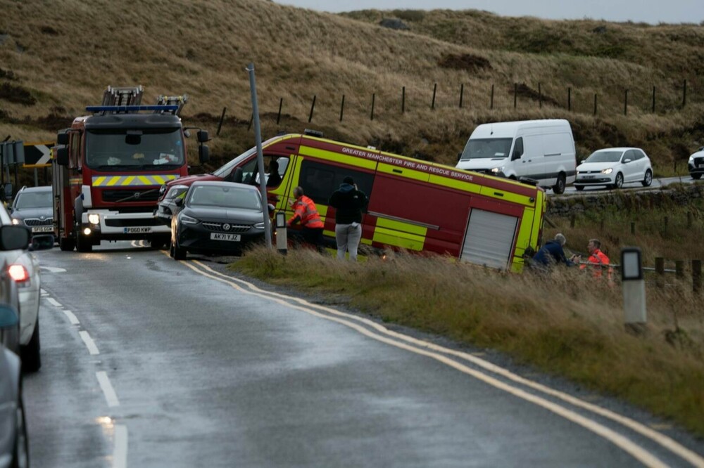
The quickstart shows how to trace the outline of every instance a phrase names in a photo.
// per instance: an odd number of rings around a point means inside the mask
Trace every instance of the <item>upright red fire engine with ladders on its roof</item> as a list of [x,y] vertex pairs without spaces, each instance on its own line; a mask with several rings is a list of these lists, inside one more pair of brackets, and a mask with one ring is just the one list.
[[[142,86],[108,86],[103,103],[88,106],[58,132],[54,152],[54,235],[61,250],[90,252],[101,240],[149,240],[158,248],[170,229],[153,216],[159,188],[186,176],[179,117],[187,96],[159,96],[140,105]],[[208,133],[198,129],[199,160],[208,160]]]

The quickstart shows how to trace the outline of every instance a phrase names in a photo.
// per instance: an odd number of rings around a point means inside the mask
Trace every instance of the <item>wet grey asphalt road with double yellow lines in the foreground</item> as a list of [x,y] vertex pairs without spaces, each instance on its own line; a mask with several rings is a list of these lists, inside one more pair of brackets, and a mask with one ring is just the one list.
[[34,467],[704,466],[703,441],[644,412],[217,258],[39,257]]

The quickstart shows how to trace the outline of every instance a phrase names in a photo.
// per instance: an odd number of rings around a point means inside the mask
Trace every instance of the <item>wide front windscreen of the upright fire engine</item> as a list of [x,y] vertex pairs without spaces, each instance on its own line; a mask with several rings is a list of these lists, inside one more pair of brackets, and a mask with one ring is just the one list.
[[86,164],[97,170],[174,169],[184,164],[180,129],[90,130]]

